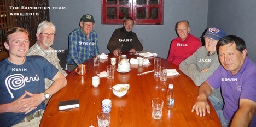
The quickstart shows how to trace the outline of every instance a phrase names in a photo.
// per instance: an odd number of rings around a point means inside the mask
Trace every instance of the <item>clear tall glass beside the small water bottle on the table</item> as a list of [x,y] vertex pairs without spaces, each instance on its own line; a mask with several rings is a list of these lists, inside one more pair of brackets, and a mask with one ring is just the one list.
[[164,100],[160,98],[154,98],[152,100],[152,117],[154,119],[162,118],[162,107],[164,106]]

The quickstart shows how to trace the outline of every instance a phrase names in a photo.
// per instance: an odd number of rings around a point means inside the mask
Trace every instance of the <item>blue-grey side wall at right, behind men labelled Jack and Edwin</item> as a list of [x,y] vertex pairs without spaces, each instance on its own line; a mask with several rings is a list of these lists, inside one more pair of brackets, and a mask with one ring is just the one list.
[[207,26],[222,27],[227,35],[245,40],[248,56],[256,62],[256,1],[210,0],[209,5]]

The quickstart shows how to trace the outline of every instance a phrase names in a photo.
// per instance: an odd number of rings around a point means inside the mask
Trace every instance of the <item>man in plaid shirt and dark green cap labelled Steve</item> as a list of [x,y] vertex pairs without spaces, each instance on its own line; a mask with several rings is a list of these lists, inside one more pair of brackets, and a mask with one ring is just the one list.
[[68,37],[67,68],[71,72],[79,64],[99,54],[98,35],[94,28],[94,17],[90,14],[83,15],[80,28],[75,29]]

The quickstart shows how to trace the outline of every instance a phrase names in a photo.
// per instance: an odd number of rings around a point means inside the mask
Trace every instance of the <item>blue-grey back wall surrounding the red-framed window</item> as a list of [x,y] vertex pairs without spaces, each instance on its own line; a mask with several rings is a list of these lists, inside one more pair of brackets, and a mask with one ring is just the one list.
[[[109,53],[108,41],[117,28],[123,25],[101,24],[100,0],[54,0],[49,6],[65,6],[65,10],[50,10],[50,21],[56,29],[56,38],[53,47],[58,50],[68,48],[68,35],[79,27],[80,18],[84,14],[91,14],[95,19],[94,30],[98,33],[101,53]],[[206,29],[208,1],[205,0],[166,0],[164,1],[164,25],[136,25],[135,32],[143,45],[144,50],[158,53],[159,57],[167,58],[171,40],[176,38],[175,24],[179,20],[190,22],[191,34],[201,37]]]

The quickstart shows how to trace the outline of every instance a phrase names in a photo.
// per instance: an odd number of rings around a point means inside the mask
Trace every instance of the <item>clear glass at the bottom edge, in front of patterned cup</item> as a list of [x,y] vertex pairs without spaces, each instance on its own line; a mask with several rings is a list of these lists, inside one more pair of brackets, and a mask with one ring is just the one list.
[[101,112],[97,115],[98,126],[106,127],[110,124],[110,114],[107,112]]

